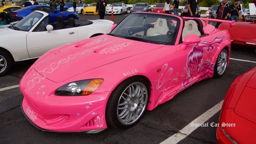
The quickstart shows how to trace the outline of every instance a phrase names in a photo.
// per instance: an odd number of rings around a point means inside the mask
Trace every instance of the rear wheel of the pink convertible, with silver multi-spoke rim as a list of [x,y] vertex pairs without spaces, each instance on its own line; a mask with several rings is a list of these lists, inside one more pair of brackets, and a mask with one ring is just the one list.
[[218,59],[215,63],[214,78],[219,78],[224,74],[227,67],[227,60],[228,60],[228,52],[227,52],[227,49],[225,48],[220,52]]

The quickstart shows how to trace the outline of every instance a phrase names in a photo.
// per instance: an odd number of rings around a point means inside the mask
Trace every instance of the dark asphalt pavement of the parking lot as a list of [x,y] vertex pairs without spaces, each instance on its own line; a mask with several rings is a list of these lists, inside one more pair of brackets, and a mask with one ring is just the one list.
[[[114,16],[114,22],[119,23],[125,16]],[[99,16],[80,18],[98,19]],[[106,16],[105,19],[111,17]],[[256,61],[254,51],[252,47],[232,45],[231,58]],[[51,133],[36,129],[21,112],[23,95],[19,88],[2,89],[18,85],[34,62],[26,60],[16,63],[9,75],[0,77],[0,143],[160,143],[223,100],[233,80],[256,66],[256,63],[230,60],[223,77],[200,81],[153,111],[146,111],[136,126],[84,134]],[[217,123],[219,114],[216,113],[207,122]],[[215,133],[216,127],[199,127],[179,143],[215,143]]]

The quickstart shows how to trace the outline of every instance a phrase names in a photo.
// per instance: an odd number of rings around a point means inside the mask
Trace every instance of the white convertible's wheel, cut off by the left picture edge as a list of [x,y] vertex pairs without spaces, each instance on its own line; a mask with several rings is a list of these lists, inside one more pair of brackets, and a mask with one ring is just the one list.
[[11,70],[12,58],[5,51],[0,50],[0,77]]

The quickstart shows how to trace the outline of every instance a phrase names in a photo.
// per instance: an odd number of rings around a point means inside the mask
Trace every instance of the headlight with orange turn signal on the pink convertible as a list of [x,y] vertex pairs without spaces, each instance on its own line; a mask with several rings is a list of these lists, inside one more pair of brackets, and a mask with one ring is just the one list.
[[55,95],[60,96],[79,96],[90,95],[103,83],[103,79],[87,79],[74,81],[59,87],[55,91]]

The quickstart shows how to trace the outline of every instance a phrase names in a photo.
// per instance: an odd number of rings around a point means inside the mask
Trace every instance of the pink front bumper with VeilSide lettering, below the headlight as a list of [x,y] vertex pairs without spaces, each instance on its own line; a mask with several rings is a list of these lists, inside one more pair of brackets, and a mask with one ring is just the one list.
[[21,105],[26,119],[42,131],[96,133],[107,128],[105,107],[111,92],[94,92],[85,96],[57,96],[57,83],[46,78],[28,89],[35,70],[26,73],[20,88],[24,95]]

